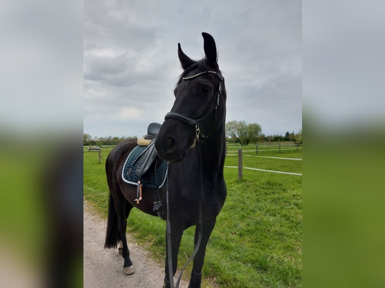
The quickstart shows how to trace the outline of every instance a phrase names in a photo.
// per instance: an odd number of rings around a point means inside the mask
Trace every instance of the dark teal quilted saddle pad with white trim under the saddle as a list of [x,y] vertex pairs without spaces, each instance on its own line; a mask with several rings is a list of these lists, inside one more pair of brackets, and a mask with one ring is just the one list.
[[[135,173],[136,165],[138,163],[137,160],[144,154],[146,149],[147,146],[137,146],[131,151],[123,167],[123,181],[138,186],[138,181],[140,180],[140,183],[144,188],[161,188],[166,182],[167,161],[163,161],[157,157],[151,164],[150,169],[142,175],[141,179],[139,179]],[[160,165],[159,162],[161,162]]]

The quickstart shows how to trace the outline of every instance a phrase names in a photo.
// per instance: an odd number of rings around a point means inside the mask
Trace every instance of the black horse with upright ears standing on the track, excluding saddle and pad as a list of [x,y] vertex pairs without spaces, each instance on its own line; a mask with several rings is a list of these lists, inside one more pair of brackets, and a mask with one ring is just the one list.
[[[207,33],[202,36],[206,57],[199,61],[186,56],[178,43],[178,57],[184,71],[174,89],[174,105],[155,140],[158,157],[169,162],[167,183],[161,189],[143,188],[143,198],[137,201],[137,187],[122,180],[125,160],[137,146],[136,140],[116,146],[106,161],[110,201],[105,247],[117,247],[118,242],[123,245],[124,273],[134,273],[126,240],[131,209],[136,207],[154,216],[166,216],[163,287],[174,286],[182,233],[193,225],[196,225],[195,250],[191,255],[194,264],[189,287],[201,286],[206,246],[226,199],[225,82],[217,63],[214,39]],[[159,214],[153,209],[156,199],[162,203]]]

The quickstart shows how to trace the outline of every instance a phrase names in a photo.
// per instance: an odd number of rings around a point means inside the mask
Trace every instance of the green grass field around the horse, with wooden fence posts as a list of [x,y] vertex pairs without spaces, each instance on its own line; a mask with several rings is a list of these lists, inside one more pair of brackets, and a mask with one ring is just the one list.
[[[228,154],[236,154],[238,148],[255,151],[255,146],[229,145]],[[104,163],[111,149],[102,148],[101,164],[98,152],[84,150],[84,198],[103,217],[107,217],[109,197]],[[281,149],[281,153],[245,152],[251,156],[243,157],[243,166],[302,173],[302,161],[255,157],[302,159],[301,148],[298,151]],[[237,157],[228,155],[225,165],[237,166]],[[243,179],[237,175],[237,169],[225,168],[228,196],[207,247],[202,286],[302,286],[302,177],[246,169]],[[178,267],[192,253],[194,228],[183,234]],[[164,221],[134,209],[127,231],[135,236],[138,245],[146,246],[154,259],[164,264]],[[186,277],[189,276],[187,269]]]

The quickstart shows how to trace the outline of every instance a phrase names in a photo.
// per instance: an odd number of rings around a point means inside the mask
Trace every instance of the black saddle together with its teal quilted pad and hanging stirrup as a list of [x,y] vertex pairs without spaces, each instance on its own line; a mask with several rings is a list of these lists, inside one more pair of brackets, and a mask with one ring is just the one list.
[[[142,200],[142,187],[158,190],[166,180],[168,163],[157,157],[155,139],[161,124],[150,123],[147,134],[138,139],[138,146],[128,156],[123,168],[122,178],[128,184],[137,186],[137,204]],[[161,206],[159,195],[154,202],[154,211]]]

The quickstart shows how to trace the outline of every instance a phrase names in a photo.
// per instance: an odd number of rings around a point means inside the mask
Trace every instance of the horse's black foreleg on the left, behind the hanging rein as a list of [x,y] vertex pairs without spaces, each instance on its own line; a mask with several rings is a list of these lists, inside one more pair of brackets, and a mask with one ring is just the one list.
[[[176,273],[176,267],[178,264],[178,251],[179,251],[179,245],[180,240],[182,238],[183,229],[181,228],[181,225],[171,225],[171,259],[172,259],[172,275],[175,275]],[[170,287],[170,276],[169,276],[169,269],[168,269],[168,240],[167,240],[167,231],[166,231],[166,266],[164,269],[165,277],[164,277],[164,288]]]

